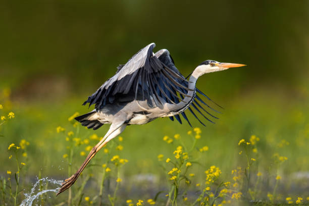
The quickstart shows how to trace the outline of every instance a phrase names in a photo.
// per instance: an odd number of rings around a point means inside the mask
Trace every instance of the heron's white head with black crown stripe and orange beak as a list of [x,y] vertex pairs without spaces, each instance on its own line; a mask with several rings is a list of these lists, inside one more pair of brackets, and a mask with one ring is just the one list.
[[234,64],[234,63],[221,63],[213,60],[207,60],[202,62],[200,65],[196,67],[199,75],[211,72],[223,71],[231,67],[242,67],[246,66],[243,64]]

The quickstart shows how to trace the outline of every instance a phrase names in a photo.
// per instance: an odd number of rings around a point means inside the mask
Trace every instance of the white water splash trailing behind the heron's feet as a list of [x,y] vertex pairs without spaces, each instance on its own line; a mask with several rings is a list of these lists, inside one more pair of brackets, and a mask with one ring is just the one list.
[[[39,183],[42,181],[43,183],[52,183],[53,185],[58,186],[56,189],[45,189],[42,191],[39,191]],[[55,192],[57,193],[60,189],[59,186],[61,186],[62,180],[54,180],[54,179],[48,179],[48,177],[37,179],[36,183],[31,188],[30,193],[25,193],[26,198],[21,202],[20,206],[31,206],[32,202],[37,199],[41,194],[44,194],[46,192]]]

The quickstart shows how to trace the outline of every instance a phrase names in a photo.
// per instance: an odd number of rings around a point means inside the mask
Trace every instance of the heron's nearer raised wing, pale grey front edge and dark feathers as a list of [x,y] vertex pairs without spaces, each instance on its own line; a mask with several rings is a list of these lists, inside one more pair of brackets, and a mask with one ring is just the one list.
[[[175,96],[176,92],[186,94],[188,85],[184,86],[179,82],[187,80],[153,56],[152,49],[155,46],[155,43],[150,43],[125,65],[120,65],[117,73],[89,96],[83,105],[89,103],[90,107],[95,104],[95,109],[99,110],[127,95],[131,99],[139,97],[139,100],[147,100],[149,107],[153,107],[153,102],[159,106],[163,104],[161,98],[169,98],[164,92],[169,88],[173,88]],[[158,80],[165,84],[160,84]]]

